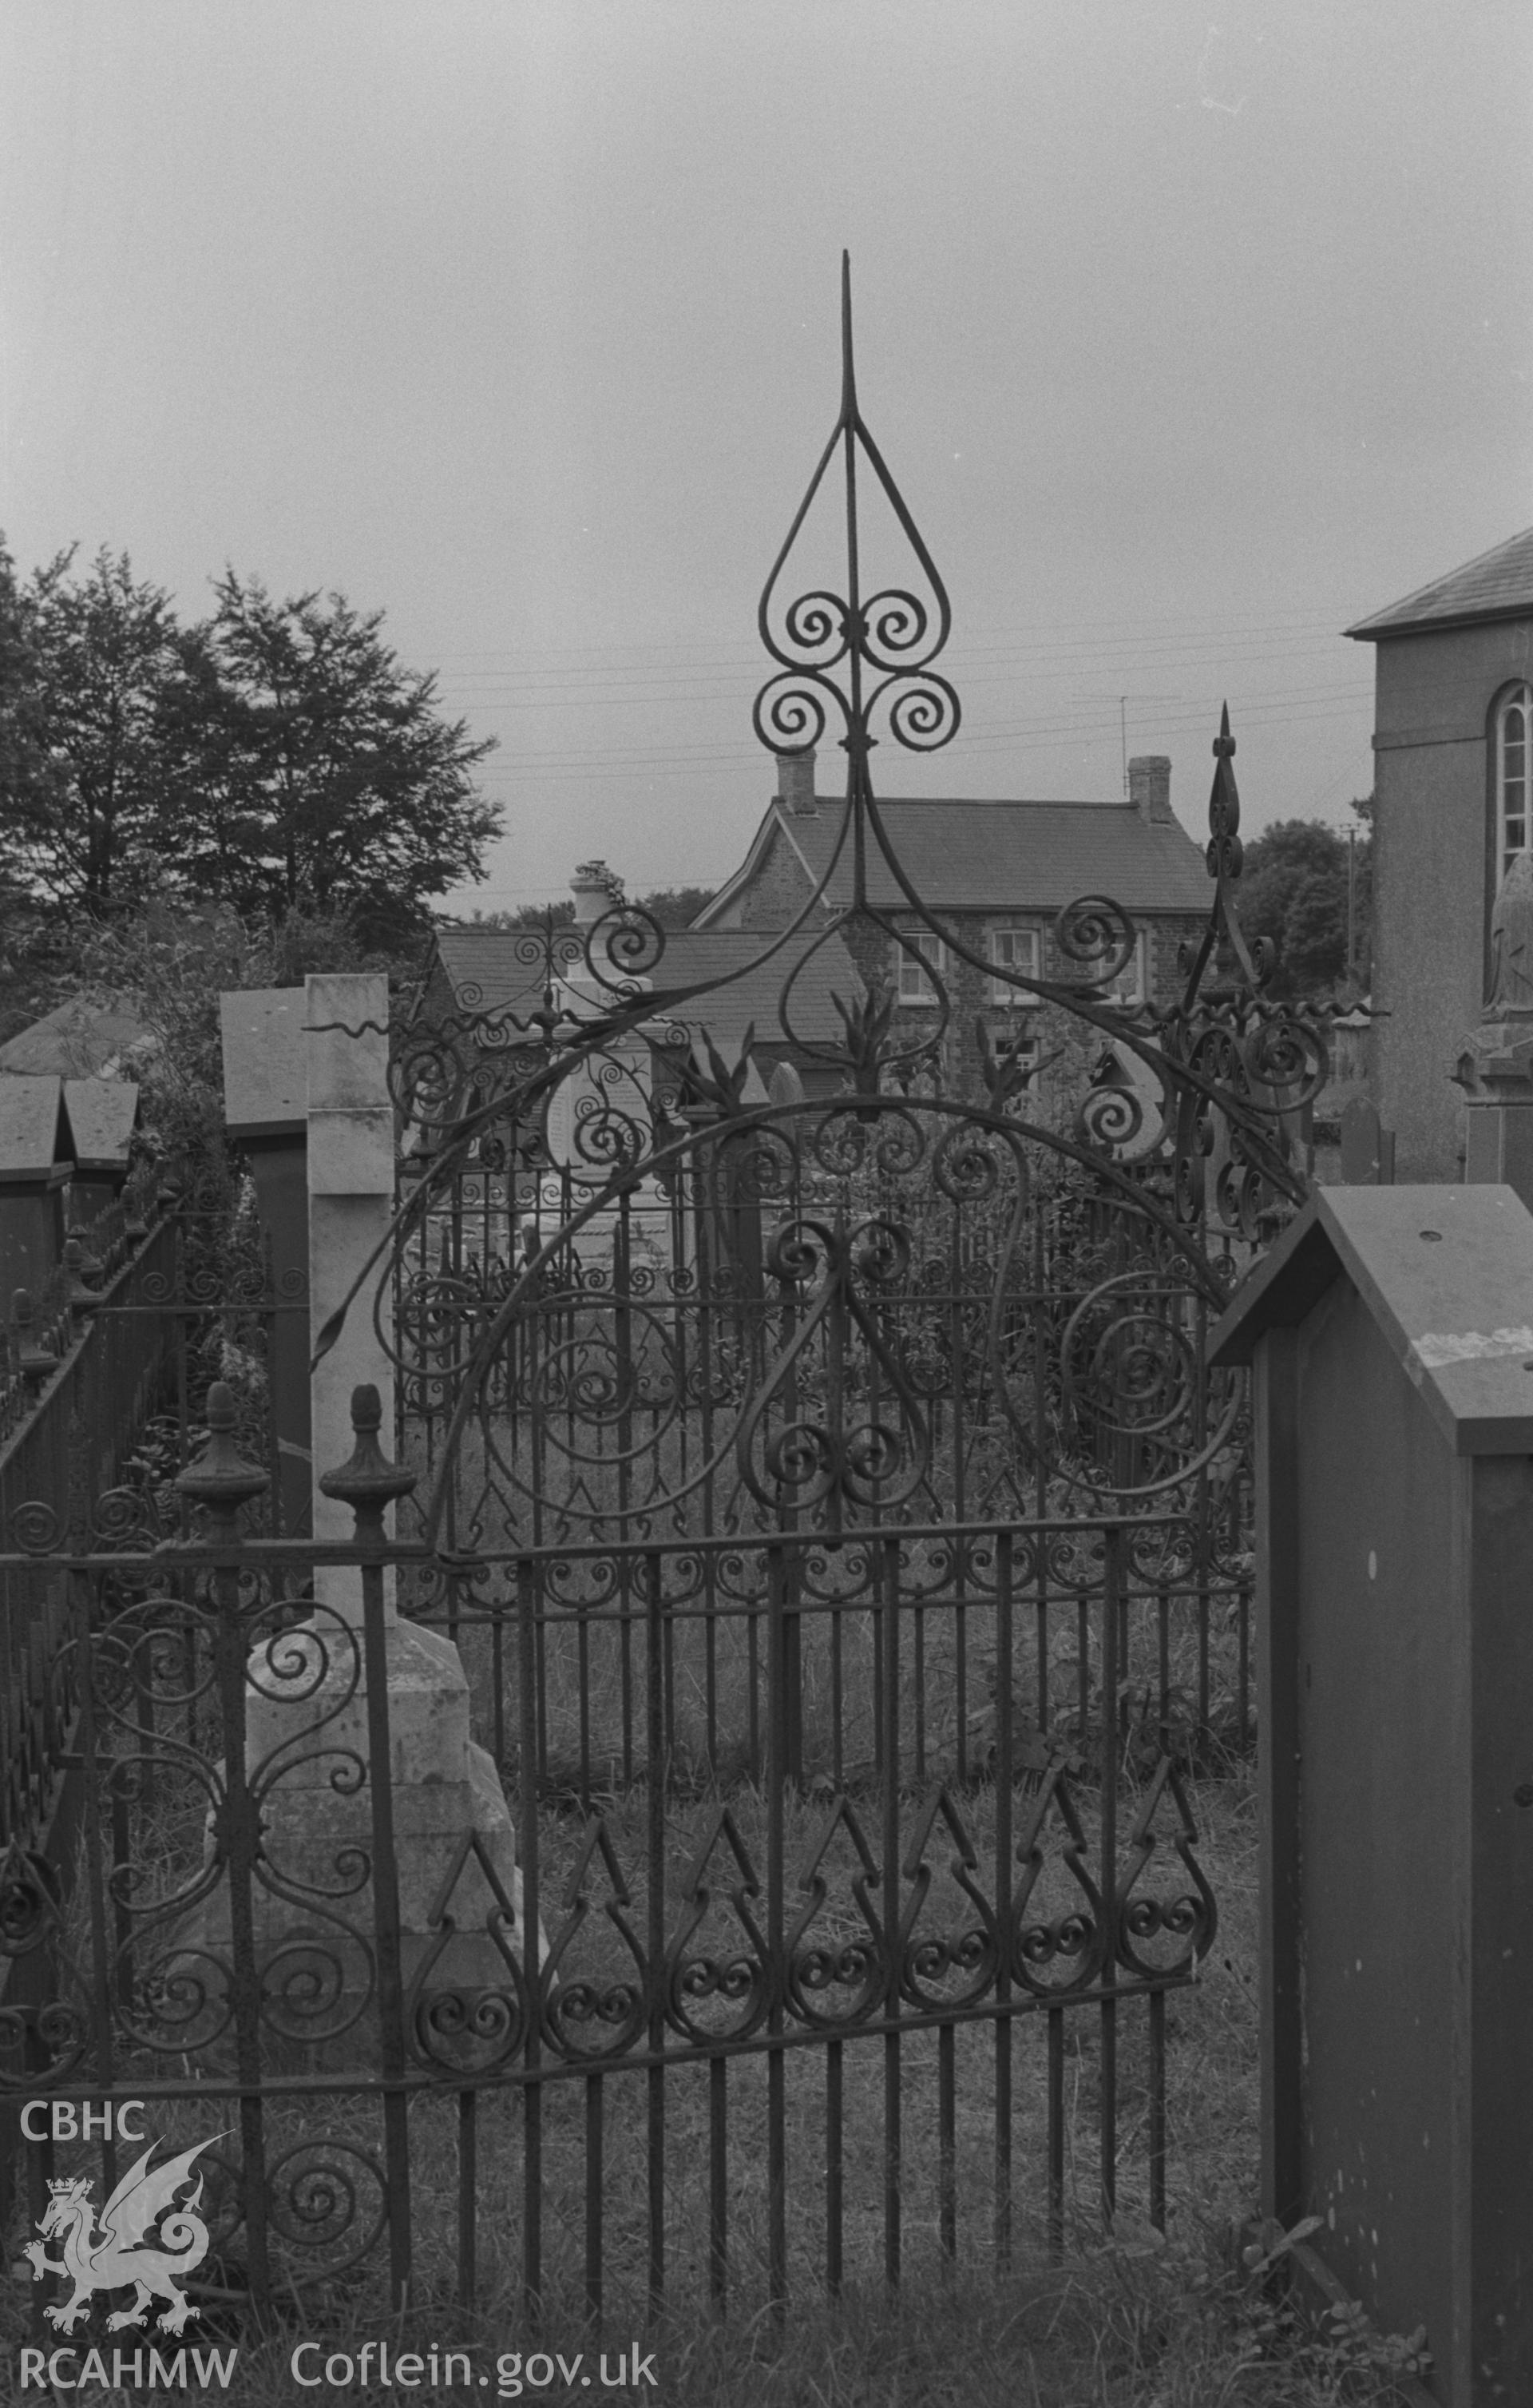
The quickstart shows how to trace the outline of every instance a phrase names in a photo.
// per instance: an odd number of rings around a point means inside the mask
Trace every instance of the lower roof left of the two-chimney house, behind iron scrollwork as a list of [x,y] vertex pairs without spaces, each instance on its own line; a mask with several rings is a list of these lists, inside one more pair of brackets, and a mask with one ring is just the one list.
[[[676,987],[703,982],[712,992],[676,1011],[659,1004],[659,1014],[681,1019],[693,1031],[708,1028],[720,1052],[739,1052],[751,1023],[758,1043],[782,1043],[777,995],[794,961],[804,961],[789,1002],[797,1033],[816,1043],[842,1035],[833,995],[852,1002],[862,995],[862,980],[840,937],[830,937],[811,954],[813,934],[818,929],[794,937],[789,946],[763,958],[775,944],[770,929],[688,927],[669,932],[664,956],[650,978],[657,999]],[[515,949],[525,937],[525,929],[501,927],[445,927],[438,932],[438,961],[462,1011],[510,1011],[515,1019],[525,1019],[541,1004],[541,966],[517,961]],[[729,980],[729,985],[717,985],[717,980]]]

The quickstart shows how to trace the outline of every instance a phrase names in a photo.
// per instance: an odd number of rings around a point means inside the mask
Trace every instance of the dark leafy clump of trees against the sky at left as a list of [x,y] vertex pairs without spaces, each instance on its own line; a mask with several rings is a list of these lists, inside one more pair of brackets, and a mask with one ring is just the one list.
[[0,838],[14,886],[91,917],[147,896],[243,920],[349,915],[366,942],[428,925],[479,877],[498,814],[474,771],[491,742],[440,715],[383,614],[344,595],[277,602],[229,571],[214,612],[101,551],[17,585],[0,556]]

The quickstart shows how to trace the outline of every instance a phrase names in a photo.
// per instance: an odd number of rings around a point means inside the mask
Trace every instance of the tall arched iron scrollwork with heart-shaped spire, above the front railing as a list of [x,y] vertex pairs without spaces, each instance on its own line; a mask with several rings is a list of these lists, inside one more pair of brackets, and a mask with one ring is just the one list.
[[[869,477],[910,547],[907,571],[871,595]],[[845,576],[794,592],[801,530],[835,486]],[[378,1324],[407,1413],[431,1430],[426,1531],[440,1534],[450,1493],[460,1529],[566,1541],[616,1524],[686,1534],[703,1495],[712,1529],[792,1515],[835,1531],[939,1522],[958,1491],[1020,1512],[1227,1479],[1239,1392],[1208,1373],[1203,1329],[1307,1192],[1297,1132],[1326,1081],[1326,1014],[1271,995],[1268,949],[1239,925],[1227,710],[1213,903],[1174,999],[1114,992],[1138,929],[1112,896],[1059,913],[1052,970],[1028,975],[982,958],[917,891],[871,754],[958,732],[936,667],[951,604],[857,402],[845,262],[840,412],[758,624],[773,660],[760,742],[782,754],[830,732],[847,756],[840,824],[792,925],[720,980],[667,982],[664,929],[618,896],[592,925],[515,939],[520,1002],[460,995],[395,1033],[407,1158],[392,1259],[371,1276],[397,1308],[392,1329],[383,1312]],[[874,855],[895,915],[874,901]],[[864,975],[835,995],[830,1040],[823,1019],[806,1028],[801,997],[837,939],[835,958]],[[869,968],[900,954],[931,982],[915,1035]],[[943,961],[1085,1040],[1095,1074],[1069,1120],[984,1028],[970,1091],[943,1086]],[[727,1057],[712,1004],[768,963],[775,1026]],[[813,1091],[789,1079],[768,1093],[758,1038]]]

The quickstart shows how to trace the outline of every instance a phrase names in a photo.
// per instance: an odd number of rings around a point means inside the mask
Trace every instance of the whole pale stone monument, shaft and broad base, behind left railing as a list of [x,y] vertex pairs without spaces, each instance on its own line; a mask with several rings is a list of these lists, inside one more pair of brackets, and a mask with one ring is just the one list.
[[[392,1291],[387,1238],[395,1206],[395,1112],[387,1088],[387,980],[366,973],[310,978],[301,1026],[306,1055],[310,1426],[320,1474],[347,1464],[359,1440],[354,1404],[371,1399],[368,1430],[392,1438]],[[383,1288],[378,1293],[378,1281]],[[359,1286],[361,1281],[361,1286]],[[354,1293],[356,1291],[356,1293]],[[347,1305],[337,1324],[339,1308]],[[361,1423],[359,1423],[361,1428]],[[392,1531],[392,1507],[390,1507]],[[354,1539],[354,1507],[313,1483],[313,1536]],[[371,1861],[371,1784],[387,1782],[399,1878],[399,1955],[412,2030],[431,2035],[438,2061],[474,2064],[493,1999],[515,1977],[522,1883],[501,1775],[472,1739],[472,1700],[452,1640],[402,1621],[385,1572],[383,1671],[390,1760],[373,1765],[356,1565],[315,1565],[313,1613],[250,1657],[245,1765],[282,1765],[262,1794],[262,1849],[272,1881],[253,1890],[258,1955],[274,1996],[270,2023],[313,2061],[366,2054],[359,2001],[368,1970],[368,1898],[344,1900],[349,1866]],[[351,1777],[366,1765],[368,1780]],[[306,1905],[306,1898],[313,1905]],[[325,1900],[344,1900],[325,1905]],[[356,1924],[366,1941],[351,1938]],[[188,1960],[229,1950],[229,1888],[178,1934]],[[539,1958],[546,1941],[539,1934]],[[433,2023],[433,1999],[438,2020]],[[286,2006],[282,2003],[286,2001]],[[491,2001],[489,2018],[474,2006]],[[359,2020],[361,2015],[361,2020]],[[440,2030],[438,2030],[440,2023]]]

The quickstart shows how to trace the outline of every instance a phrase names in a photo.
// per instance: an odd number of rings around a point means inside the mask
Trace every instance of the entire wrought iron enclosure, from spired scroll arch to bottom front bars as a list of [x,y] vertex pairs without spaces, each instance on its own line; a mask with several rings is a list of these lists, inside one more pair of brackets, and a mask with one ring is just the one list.
[[[780,607],[833,465],[845,588]],[[915,559],[874,597],[869,467]],[[84,1871],[67,1898],[12,1849],[0,1948],[48,1950],[58,1996],[0,2011],[0,2078],[152,2097],[178,2141],[238,2124],[205,2155],[207,2273],[258,2304],[371,2264],[395,2300],[780,2304],[912,2249],[1165,2220],[1167,1996],[1215,1931],[1189,1777],[1249,1731],[1244,1394],[1203,1329],[1302,1197],[1324,1031],[1239,934],[1227,725],[1174,1004],[1112,999],[1136,932],[1107,898],[1037,978],[922,903],[869,751],[955,732],[948,602],[850,306],[760,626],[763,742],[835,720],[847,751],[850,910],[816,896],[756,956],[816,1091],[753,1093],[640,910],[527,939],[529,1007],[397,1031],[402,1202],[349,1310],[395,1353],[402,1466],[363,1397],[330,1471],[356,1544],[238,1529],[265,1474],[214,1394],[176,1481],[202,1527],[156,1544],[140,1498],[67,1548]],[[837,1045],[801,1040],[850,922],[1013,978],[1107,1074],[1069,1120],[1016,1057],[939,1091],[941,970],[917,1038],[866,985]],[[361,1613],[315,1604],[315,1565],[361,1568]],[[368,1780],[387,1582],[457,1642],[517,1823],[520,1895],[464,1845],[424,1948]]]

